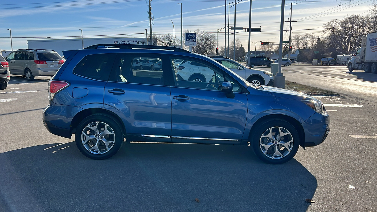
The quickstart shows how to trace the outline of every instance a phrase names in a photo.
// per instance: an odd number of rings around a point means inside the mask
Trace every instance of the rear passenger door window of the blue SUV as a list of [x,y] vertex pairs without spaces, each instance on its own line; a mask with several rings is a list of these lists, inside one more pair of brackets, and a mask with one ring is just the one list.
[[[150,57],[153,60],[139,60],[140,58]],[[134,62],[136,61],[136,62]],[[149,63],[149,61],[156,61],[152,66],[139,66],[133,63]],[[123,83],[138,83],[138,84],[152,84],[164,85],[162,59],[155,58],[152,55],[140,55],[135,57],[133,55],[121,54],[115,59],[112,68],[112,76],[109,81],[123,82]]]

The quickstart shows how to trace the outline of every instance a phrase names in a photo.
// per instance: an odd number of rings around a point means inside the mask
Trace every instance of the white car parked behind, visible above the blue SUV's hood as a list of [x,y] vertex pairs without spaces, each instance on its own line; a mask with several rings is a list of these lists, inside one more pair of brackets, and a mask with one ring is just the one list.
[[240,77],[247,80],[249,83],[256,85],[268,85],[272,86],[274,84],[274,75],[269,71],[252,69],[243,66],[241,63],[234,61],[228,57],[224,56],[208,56],[218,63],[232,70],[234,73],[238,74]]

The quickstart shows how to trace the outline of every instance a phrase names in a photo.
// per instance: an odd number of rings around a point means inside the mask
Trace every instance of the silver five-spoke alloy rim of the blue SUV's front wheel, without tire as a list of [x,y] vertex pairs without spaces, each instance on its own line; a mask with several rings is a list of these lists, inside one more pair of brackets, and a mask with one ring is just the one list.
[[285,128],[272,127],[262,134],[259,140],[259,147],[268,158],[284,158],[293,148],[293,137]]

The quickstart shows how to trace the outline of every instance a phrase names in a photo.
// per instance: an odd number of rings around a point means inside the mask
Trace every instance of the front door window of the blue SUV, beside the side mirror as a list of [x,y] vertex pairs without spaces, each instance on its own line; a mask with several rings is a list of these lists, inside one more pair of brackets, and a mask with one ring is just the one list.
[[238,83],[224,72],[212,68],[205,62],[183,60],[178,66],[174,66],[176,58],[170,58],[170,63],[174,71],[175,86],[183,88],[197,88],[220,91],[224,81],[233,84],[233,91],[240,92]]

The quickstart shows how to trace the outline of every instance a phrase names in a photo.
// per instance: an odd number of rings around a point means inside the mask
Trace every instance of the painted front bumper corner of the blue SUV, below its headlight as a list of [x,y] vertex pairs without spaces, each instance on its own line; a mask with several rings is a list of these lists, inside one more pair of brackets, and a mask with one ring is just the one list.
[[330,117],[328,113],[315,113],[302,123],[305,133],[303,147],[317,146],[321,144],[330,132]]

